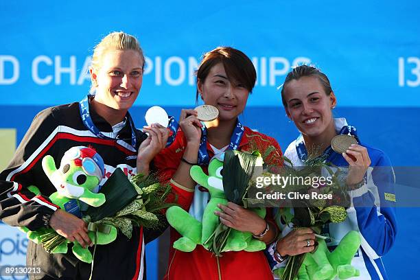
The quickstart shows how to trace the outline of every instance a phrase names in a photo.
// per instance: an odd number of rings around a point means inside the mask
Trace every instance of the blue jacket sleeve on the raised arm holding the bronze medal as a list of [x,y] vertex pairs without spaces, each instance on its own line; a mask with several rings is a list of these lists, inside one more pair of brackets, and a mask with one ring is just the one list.
[[395,176],[389,159],[381,154],[367,172],[367,183],[351,191],[362,248],[369,257],[385,255],[395,242]]

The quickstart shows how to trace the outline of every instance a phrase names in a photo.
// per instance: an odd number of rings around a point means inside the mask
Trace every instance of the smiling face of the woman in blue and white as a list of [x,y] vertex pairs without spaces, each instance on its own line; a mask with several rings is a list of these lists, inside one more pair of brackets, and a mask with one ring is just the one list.
[[316,76],[304,76],[285,84],[286,113],[296,128],[307,137],[319,137],[334,130],[331,108],[336,106],[334,92],[330,95]]

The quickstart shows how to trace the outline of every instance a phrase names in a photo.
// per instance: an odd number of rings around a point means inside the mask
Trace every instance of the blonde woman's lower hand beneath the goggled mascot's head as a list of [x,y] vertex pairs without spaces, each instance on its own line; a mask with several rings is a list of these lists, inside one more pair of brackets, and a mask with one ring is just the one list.
[[67,240],[79,242],[83,248],[93,245],[89,235],[87,235],[86,223],[71,213],[58,209],[51,215],[49,226],[59,235],[66,237]]

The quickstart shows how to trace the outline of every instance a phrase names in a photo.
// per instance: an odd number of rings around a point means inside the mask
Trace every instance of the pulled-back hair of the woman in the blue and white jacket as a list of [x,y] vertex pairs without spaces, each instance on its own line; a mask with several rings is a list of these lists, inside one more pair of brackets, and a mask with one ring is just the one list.
[[300,78],[307,76],[314,76],[318,78],[319,82],[325,90],[325,93],[328,96],[331,94],[331,84],[329,83],[327,75],[325,75],[323,72],[319,71],[319,69],[316,69],[315,67],[301,65],[295,67],[292,71],[290,71],[284,80],[283,87],[281,88],[281,102],[283,102],[284,108],[287,108],[288,106],[288,104],[284,100],[284,88],[286,84],[288,84],[288,82],[290,82],[291,80],[299,80]]

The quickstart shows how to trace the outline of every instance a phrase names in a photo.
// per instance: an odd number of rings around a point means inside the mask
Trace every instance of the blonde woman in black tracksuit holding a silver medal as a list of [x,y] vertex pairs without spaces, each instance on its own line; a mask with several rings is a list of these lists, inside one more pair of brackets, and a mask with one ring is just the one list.
[[[138,40],[113,32],[95,47],[90,69],[91,92],[80,102],[47,108],[36,115],[9,167],[0,176],[0,218],[11,226],[34,231],[51,227],[70,241],[91,246],[84,221],[49,201],[55,187],[43,172],[41,161],[49,154],[56,163],[74,146],[94,148],[104,159],[104,180],[115,168],[148,174],[150,161],[165,147],[169,133],[159,125],[137,130],[128,109],[137,99],[143,80],[144,56]],[[34,197],[27,186],[36,185]],[[97,246],[93,279],[143,279],[144,243],[152,235],[135,228],[132,238],[118,235]],[[91,265],[72,253],[49,254],[29,242],[27,265],[39,266],[36,279],[88,279]]]

